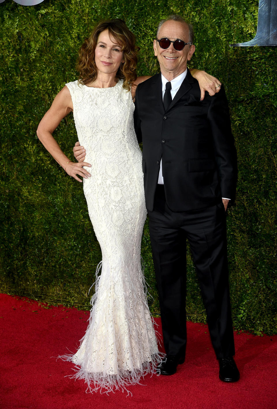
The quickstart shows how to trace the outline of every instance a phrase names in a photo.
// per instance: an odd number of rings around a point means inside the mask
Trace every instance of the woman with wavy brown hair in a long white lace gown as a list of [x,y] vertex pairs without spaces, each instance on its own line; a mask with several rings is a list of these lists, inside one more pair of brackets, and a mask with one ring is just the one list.
[[[97,25],[79,52],[79,81],[55,97],[37,135],[47,151],[79,180],[101,246],[86,334],[77,353],[76,378],[90,391],[125,389],[154,373],[161,362],[146,300],[140,243],[146,218],[141,151],[133,128],[136,85],[135,36],[122,20]],[[88,162],[71,162],[52,133],[73,111]],[[92,385],[92,386],[91,386]]]

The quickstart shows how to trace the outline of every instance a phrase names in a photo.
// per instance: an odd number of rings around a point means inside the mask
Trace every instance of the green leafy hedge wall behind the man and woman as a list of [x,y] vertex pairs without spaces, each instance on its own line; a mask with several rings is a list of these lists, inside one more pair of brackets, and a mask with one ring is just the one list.
[[[230,101],[239,157],[236,205],[227,215],[234,326],[277,333],[276,54],[275,47],[230,48],[257,29],[258,0],[45,0],[0,4],[1,266],[0,291],[89,308],[101,251],[82,186],[65,175],[36,137],[36,127],[63,85],[77,79],[77,50],[101,18],[123,18],[141,47],[138,74],[158,65],[158,21],[180,13],[194,23],[191,64],[217,76]],[[55,131],[70,157],[72,115]],[[158,313],[147,222],[142,238],[149,306]],[[188,253],[188,319],[205,311]]]

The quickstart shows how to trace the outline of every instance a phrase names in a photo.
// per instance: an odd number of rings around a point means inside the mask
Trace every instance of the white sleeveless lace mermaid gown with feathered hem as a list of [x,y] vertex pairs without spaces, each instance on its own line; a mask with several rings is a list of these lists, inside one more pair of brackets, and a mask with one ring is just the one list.
[[88,328],[74,355],[74,378],[88,391],[140,383],[161,362],[146,299],[140,246],[146,208],[142,153],[133,126],[131,92],[67,83],[79,142],[86,149],[83,179],[88,213],[101,246]]

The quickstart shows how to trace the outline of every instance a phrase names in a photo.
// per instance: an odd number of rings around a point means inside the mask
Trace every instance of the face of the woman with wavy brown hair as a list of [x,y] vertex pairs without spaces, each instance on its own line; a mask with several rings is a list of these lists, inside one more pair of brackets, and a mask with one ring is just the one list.
[[123,51],[114,37],[109,36],[108,29],[102,31],[95,47],[95,64],[98,72],[116,74],[120,64],[124,62]]

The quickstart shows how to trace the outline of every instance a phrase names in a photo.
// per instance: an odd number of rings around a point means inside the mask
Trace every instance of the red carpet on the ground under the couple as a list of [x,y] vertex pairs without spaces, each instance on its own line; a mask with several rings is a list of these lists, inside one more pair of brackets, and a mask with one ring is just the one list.
[[53,357],[74,351],[87,319],[88,312],[0,294],[1,409],[277,408],[277,336],[235,334],[241,380],[225,384],[207,326],[190,322],[186,362],[175,375],[146,376],[144,386],[129,387],[133,396],[86,393],[83,381],[65,378],[73,365]]

